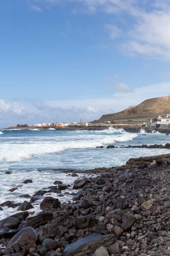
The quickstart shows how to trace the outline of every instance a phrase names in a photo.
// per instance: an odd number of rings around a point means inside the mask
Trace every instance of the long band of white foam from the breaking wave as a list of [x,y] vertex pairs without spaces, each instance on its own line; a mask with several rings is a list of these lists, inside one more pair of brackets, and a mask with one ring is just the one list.
[[96,136],[88,140],[60,141],[58,143],[30,143],[30,144],[7,144],[0,145],[0,162],[16,162],[36,155],[55,153],[70,148],[96,148],[97,146],[106,146],[116,142],[126,142],[133,140],[137,134],[124,134],[116,136]]

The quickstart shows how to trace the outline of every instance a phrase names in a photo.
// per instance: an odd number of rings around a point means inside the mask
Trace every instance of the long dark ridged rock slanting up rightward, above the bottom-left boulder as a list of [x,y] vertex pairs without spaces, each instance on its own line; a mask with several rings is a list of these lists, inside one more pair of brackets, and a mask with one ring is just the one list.
[[22,230],[25,227],[39,227],[42,225],[47,224],[49,221],[51,221],[53,218],[53,214],[52,212],[48,211],[48,212],[40,212],[38,215],[31,217],[29,219],[27,219],[26,222],[23,222],[22,224],[20,224],[20,226],[18,227],[20,230]]

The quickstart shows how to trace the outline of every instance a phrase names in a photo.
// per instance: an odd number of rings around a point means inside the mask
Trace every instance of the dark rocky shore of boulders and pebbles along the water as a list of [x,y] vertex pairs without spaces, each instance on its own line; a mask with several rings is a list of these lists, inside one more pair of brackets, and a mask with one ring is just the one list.
[[[61,204],[39,190],[19,213],[0,221],[0,256],[170,255],[169,173],[170,154],[131,158],[125,166],[77,177],[73,201]],[[68,186],[56,180],[48,195]],[[30,216],[40,197],[42,211]]]

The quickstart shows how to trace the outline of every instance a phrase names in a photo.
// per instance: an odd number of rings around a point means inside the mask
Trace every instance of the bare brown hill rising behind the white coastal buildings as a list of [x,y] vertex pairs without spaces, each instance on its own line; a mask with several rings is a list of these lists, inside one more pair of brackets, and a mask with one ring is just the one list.
[[123,116],[145,116],[150,114],[165,114],[170,113],[170,95],[146,99],[144,102],[140,103],[136,107],[127,108],[123,111],[103,115],[103,117],[123,117]]

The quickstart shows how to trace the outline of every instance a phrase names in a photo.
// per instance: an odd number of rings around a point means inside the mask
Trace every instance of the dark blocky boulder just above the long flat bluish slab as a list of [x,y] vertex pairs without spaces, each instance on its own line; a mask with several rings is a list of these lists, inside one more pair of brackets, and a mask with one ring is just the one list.
[[77,229],[85,229],[86,227],[93,227],[97,223],[97,220],[92,215],[79,216],[76,218]]

